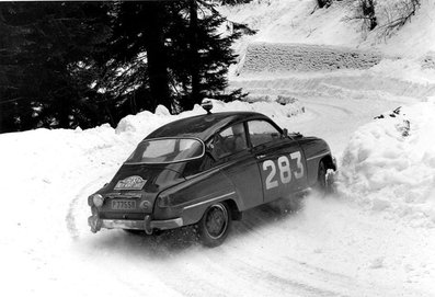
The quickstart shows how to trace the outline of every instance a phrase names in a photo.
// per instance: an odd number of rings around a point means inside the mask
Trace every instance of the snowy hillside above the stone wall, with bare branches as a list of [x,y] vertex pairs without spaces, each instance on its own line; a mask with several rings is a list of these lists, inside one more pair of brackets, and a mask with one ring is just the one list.
[[317,9],[314,0],[260,0],[236,7],[222,7],[220,11],[229,20],[247,23],[259,33],[248,37],[249,43],[285,43],[332,45],[368,50],[379,50],[391,56],[421,57],[435,52],[435,2],[422,0],[421,8],[400,32],[385,39],[379,34],[394,19],[394,4],[399,0],[376,1],[378,27],[362,31],[362,20],[346,19],[354,15],[357,1],[333,1],[328,9]]

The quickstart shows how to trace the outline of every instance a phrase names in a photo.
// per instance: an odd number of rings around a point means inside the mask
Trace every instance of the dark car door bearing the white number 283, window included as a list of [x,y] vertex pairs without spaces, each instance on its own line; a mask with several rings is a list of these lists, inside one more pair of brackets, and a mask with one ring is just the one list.
[[307,163],[299,144],[282,137],[268,121],[254,119],[247,124],[251,151],[262,179],[264,202],[304,190],[307,186]]

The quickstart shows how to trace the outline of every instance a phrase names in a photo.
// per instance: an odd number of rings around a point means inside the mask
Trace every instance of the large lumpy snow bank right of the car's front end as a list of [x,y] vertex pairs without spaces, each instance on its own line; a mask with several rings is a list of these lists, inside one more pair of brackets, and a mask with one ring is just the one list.
[[434,115],[433,98],[355,132],[343,153],[340,191],[387,217],[435,227]]

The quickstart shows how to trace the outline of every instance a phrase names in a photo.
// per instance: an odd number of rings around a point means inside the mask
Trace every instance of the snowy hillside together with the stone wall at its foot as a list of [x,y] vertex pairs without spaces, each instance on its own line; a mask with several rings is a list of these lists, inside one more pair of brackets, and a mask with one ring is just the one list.
[[229,20],[257,30],[234,46],[240,60],[231,76],[366,69],[382,59],[435,69],[435,2],[422,0],[415,15],[389,37],[385,25],[399,18],[396,5],[402,1],[377,1],[378,26],[370,32],[362,30],[360,19],[350,20],[357,2],[318,9],[313,0],[270,0],[220,8]]

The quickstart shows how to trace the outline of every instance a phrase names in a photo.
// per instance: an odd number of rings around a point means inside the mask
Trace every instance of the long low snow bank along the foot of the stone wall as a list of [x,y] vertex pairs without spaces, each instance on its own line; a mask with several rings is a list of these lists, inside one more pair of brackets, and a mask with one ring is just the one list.
[[[402,77],[400,77],[402,76]],[[432,80],[432,81],[431,81]],[[343,100],[425,100],[435,95],[435,70],[424,69],[414,62],[387,62],[367,70],[341,70],[333,72],[291,73],[271,76],[262,73],[239,77],[231,88],[243,88],[251,96],[273,95],[307,98],[334,98]]]

